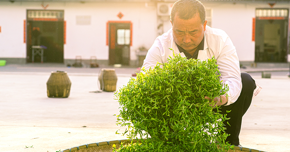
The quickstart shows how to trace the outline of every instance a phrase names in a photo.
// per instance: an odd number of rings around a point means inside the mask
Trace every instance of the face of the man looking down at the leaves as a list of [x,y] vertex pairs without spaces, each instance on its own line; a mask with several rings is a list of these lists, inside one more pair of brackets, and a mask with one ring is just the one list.
[[186,51],[195,49],[202,41],[207,20],[201,23],[199,13],[188,20],[180,19],[176,13],[173,22],[170,20],[173,38],[177,45]]

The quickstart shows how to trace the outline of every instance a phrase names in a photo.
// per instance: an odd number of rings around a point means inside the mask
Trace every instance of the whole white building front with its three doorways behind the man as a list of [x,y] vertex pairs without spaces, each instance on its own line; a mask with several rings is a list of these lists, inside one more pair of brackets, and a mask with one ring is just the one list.
[[[68,64],[81,58],[140,66],[140,50],[172,27],[174,2],[0,0],[0,59]],[[289,0],[201,2],[208,25],[230,36],[241,62],[288,62]]]

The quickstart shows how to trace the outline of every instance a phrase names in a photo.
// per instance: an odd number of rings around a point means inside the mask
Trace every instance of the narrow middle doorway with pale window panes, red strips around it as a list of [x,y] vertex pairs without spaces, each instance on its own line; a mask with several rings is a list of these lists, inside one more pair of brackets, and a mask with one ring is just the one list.
[[109,65],[129,65],[132,45],[131,22],[108,22]]

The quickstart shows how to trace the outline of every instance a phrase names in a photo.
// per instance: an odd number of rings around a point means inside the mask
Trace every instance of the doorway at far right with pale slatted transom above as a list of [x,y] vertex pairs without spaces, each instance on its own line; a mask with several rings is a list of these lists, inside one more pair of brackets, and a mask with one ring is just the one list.
[[288,10],[262,12],[263,17],[256,18],[255,62],[287,62]]

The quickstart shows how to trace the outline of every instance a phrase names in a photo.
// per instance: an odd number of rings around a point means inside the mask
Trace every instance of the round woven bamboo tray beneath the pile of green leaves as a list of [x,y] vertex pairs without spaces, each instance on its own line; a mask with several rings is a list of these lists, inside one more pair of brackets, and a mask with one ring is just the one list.
[[[133,140],[133,142],[136,143],[137,140]],[[61,152],[112,152],[113,144],[115,144],[116,147],[120,147],[121,143],[131,143],[131,141],[114,140],[114,141],[104,141],[100,143],[90,143],[78,147],[69,148]],[[229,152],[265,152],[265,151],[235,146],[234,150],[229,150]]]

